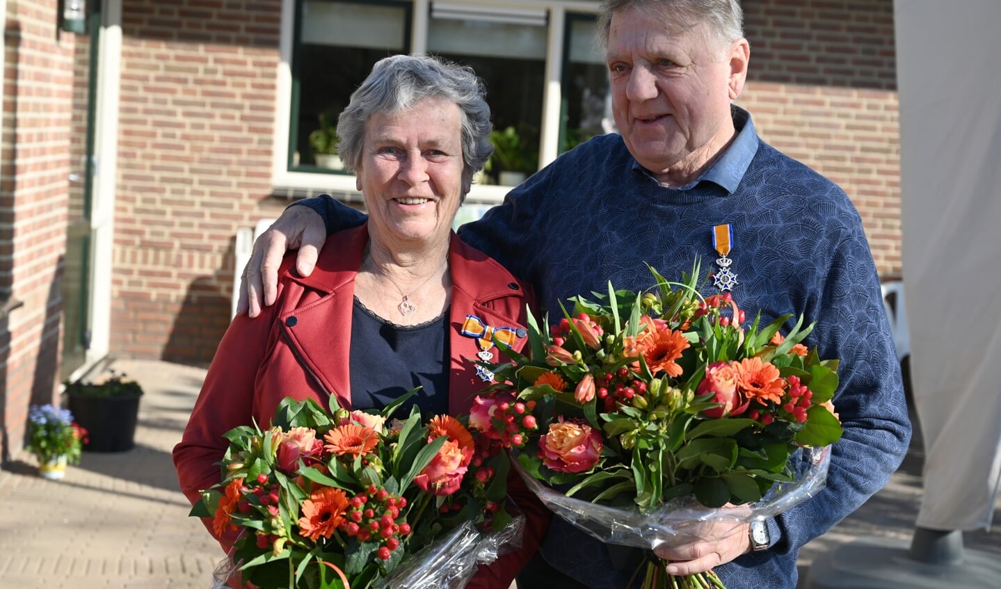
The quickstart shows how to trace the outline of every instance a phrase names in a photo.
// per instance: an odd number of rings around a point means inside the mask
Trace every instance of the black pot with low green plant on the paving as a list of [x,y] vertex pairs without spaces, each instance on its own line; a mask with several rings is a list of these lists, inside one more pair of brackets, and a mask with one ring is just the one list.
[[135,445],[135,425],[139,418],[139,397],[143,390],[123,372],[95,380],[66,382],[69,409],[89,432],[84,450],[121,452]]

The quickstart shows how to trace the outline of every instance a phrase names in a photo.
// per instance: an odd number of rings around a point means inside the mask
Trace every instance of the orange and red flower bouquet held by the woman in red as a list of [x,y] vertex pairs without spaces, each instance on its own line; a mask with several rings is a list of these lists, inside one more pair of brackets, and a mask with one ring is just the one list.
[[222,481],[191,510],[236,536],[214,586],[449,587],[520,542],[505,452],[453,417],[387,419],[412,394],[333,416],[286,398],[269,429],[227,432]]

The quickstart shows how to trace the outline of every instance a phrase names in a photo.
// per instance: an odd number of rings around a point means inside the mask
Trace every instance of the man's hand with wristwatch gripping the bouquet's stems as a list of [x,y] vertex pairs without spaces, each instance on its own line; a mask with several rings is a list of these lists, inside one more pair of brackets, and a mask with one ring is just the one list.
[[703,525],[706,527],[700,531],[700,540],[654,549],[654,554],[668,561],[668,572],[672,575],[702,573],[751,551],[747,523],[725,521]]

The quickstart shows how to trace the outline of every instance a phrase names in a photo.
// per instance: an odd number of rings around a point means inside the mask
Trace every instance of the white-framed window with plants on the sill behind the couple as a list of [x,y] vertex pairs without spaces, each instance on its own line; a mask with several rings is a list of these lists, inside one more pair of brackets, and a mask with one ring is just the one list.
[[[597,10],[597,0],[283,0],[277,111],[288,125],[275,130],[275,194],[360,202],[353,176],[323,161],[336,138],[321,131],[335,127],[376,61],[419,52],[483,79],[497,157],[466,202],[499,202],[520,181],[500,172],[531,174],[611,128],[590,4]],[[571,5],[576,12],[567,12]]]

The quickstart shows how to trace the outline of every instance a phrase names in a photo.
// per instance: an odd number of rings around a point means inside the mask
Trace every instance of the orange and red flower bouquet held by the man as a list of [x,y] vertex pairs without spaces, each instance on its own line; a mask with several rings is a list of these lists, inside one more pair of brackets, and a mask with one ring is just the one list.
[[[842,433],[831,403],[838,360],[802,343],[791,315],[768,325],[691,276],[652,269],[650,292],[572,299],[548,331],[530,320],[531,356],[485,364],[495,383],[469,424],[517,456],[530,488],[596,538],[653,549],[772,517],[824,484]],[[669,575],[651,559],[644,587],[723,587],[713,572]]]

